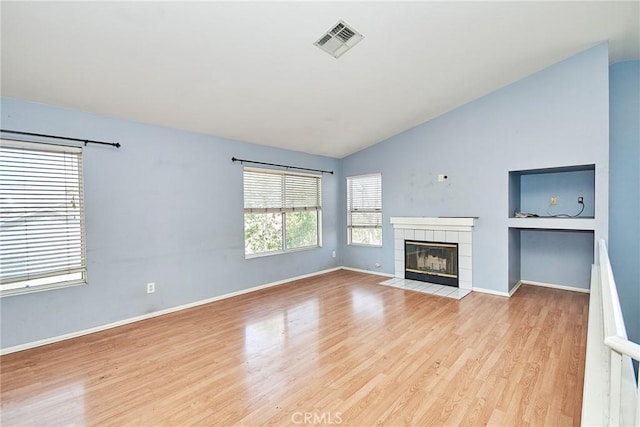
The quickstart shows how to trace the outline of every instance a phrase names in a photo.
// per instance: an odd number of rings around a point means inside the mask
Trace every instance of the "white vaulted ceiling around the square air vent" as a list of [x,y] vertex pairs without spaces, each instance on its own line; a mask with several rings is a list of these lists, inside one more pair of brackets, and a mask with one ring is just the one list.
[[341,158],[602,41],[640,59],[639,6],[2,1],[2,95]]

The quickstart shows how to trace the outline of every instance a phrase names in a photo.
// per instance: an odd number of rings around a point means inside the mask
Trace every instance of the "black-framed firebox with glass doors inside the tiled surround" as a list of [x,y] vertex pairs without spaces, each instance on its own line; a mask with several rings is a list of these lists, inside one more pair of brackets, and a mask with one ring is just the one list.
[[404,241],[405,279],[458,287],[458,244]]

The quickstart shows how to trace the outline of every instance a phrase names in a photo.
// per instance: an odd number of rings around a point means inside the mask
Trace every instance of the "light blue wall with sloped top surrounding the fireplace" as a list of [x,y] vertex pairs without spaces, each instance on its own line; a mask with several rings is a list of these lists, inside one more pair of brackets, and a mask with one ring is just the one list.
[[[608,71],[608,48],[601,44],[345,158],[345,177],[382,172],[384,228],[382,248],[343,241],[344,264],[375,270],[380,262],[381,271],[393,274],[392,216],[477,216],[473,286],[506,294],[521,272],[516,258],[526,258],[527,267],[545,265],[549,256],[537,250],[536,239],[509,231],[511,170],[595,164],[593,237],[606,238]],[[449,179],[438,183],[439,173]],[[550,249],[562,256],[560,248]],[[592,259],[584,264],[586,277]],[[552,267],[545,277],[563,284],[573,270]]]

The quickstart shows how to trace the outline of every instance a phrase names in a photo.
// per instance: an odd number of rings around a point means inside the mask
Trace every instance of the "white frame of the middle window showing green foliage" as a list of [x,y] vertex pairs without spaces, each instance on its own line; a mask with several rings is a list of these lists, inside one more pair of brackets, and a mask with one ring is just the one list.
[[[281,203],[278,207],[247,207],[247,195],[246,195],[246,172],[257,173],[257,174],[270,174],[279,176],[282,183],[282,195],[281,195]],[[272,255],[280,255],[291,252],[299,252],[306,251],[311,249],[317,249],[322,247],[322,175],[321,174],[309,174],[309,173],[299,173],[299,172],[290,172],[290,171],[281,171],[276,169],[267,169],[267,168],[256,168],[245,166],[242,171],[243,176],[243,241],[244,241],[244,257],[245,259],[252,258],[261,258],[265,256]],[[288,207],[287,205],[287,193],[286,193],[286,176],[294,176],[294,177],[309,177],[314,178],[317,181],[317,206],[315,207]],[[255,212],[254,212],[255,210]],[[308,246],[300,246],[300,247],[287,247],[287,213],[295,213],[295,212],[316,212],[316,244],[308,245]],[[281,215],[281,231],[280,231],[280,242],[281,249],[257,252],[257,253],[247,253],[247,238],[246,238],[246,215],[248,213],[275,213]]]

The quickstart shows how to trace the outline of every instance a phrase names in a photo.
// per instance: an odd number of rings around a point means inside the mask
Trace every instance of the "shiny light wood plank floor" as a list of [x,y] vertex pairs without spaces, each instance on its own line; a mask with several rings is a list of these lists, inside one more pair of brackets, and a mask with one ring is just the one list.
[[578,425],[588,296],[338,271],[0,358],[2,426]]

